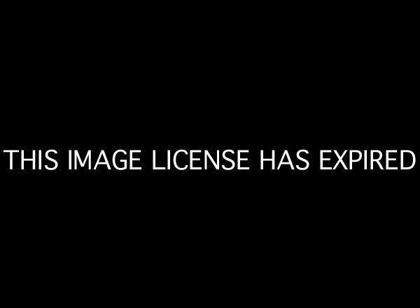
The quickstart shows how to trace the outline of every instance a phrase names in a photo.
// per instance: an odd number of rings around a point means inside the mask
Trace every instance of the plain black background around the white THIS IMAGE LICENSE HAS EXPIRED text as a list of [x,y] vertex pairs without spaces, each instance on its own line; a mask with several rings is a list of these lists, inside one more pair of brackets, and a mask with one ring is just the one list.
[[[248,148],[253,170],[45,174],[2,158],[8,290],[118,302],[410,293],[418,166],[321,172],[317,153],[418,157],[415,20],[174,9],[20,8],[2,38],[1,149]],[[300,148],[308,172],[258,171],[260,149]]]

